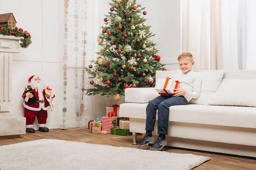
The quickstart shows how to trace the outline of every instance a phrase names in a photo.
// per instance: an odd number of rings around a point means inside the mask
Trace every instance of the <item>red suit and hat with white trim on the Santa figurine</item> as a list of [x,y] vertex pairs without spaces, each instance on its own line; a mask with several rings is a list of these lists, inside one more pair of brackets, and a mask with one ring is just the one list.
[[[33,77],[35,76],[29,78],[29,82],[35,82]],[[25,100],[23,102],[23,106],[25,107],[24,116],[26,117],[26,128],[33,128],[35,116],[37,116],[39,127],[46,127],[47,110],[50,108],[50,106],[46,99],[45,89],[33,88],[32,86],[32,91],[36,97],[35,102],[29,102],[29,92],[24,91],[22,95],[23,99]],[[54,97],[55,95],[52,94],[49,96],[49,99],[52,100]]]

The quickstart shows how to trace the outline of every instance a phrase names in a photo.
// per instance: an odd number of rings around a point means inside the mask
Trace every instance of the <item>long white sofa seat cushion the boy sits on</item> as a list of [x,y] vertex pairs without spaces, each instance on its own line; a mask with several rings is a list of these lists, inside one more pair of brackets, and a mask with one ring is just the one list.
[[[119,116],[146,119],[148,103],[123,103]],[[207,125],[256,128],[256,108],[217,105],[177,105],[170,107],[169,121]]]

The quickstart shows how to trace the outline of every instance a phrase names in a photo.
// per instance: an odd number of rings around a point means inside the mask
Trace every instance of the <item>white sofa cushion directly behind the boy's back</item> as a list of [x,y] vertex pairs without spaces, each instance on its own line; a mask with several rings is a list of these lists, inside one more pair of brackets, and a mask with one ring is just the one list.
[[209,97],[218,90],[224,71],[197,71],[196,73],[201,77],[201,92],[197,99],[191,99],[189,103],[205,105]]

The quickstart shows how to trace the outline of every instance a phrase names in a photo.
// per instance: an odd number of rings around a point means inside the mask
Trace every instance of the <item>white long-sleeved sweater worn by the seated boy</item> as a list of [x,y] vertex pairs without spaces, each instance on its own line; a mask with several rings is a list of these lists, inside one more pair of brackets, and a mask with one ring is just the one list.
[[180,82],[180,85],[186,90],[184,97],[189,102],[191,99],[197,99],[201,90],[201,77],[193,70],[187,73],[179,73],[173,76],[173,80]]

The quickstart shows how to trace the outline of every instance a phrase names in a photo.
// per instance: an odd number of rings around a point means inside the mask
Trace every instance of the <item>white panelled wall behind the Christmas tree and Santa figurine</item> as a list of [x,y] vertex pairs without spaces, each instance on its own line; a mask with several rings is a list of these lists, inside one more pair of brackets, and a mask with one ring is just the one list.
[[[90,1],[92,0],[87,0],[87,5],[90,4]],[[102,5],[103,3],[105,5]],[[99,17],[95,24],[91,25],[97,26],[94,29],[95,32],[91,34],[90,31],[87,31],[87,56],[94,55],[98,57],[91,44],[97,44],[96,36],[102,31],[99,27],[104,23],[103,14],[107,14],[110,8],[108,3],[109,1],[107,0],[104,2],[98,0],[97,5],[101,10],[93,9],[91,12],[87,11],[87,20],[89,20],[90,14],[93,14],[93,17]],[[160,50],[158,54],[161,56],[161,62],[166,64],[166,69],[178,69],[177,56],[181,53],[180,1],[161,0],[159,3],[157,1],[137,0],[137,3],[146,7],[148,14],[143,17],[148,19],[147,25],[152,26],[151,32],[156,34],[153,40]],[[59,126],[64,104],[68,107],[65,125],[67,127],[76,127],[79,126],[79,121],[84,122],[84,125],[86,125],[86,122],[90,119],[105,116],[105,107],[107,105],[124,102],[124,98],[116,102],[113,97],[106,99],[103,96],[90,96],[90,98],[95,98],[97,101],[88,101],[87,110],[84,111],[86,117],[83,117],[83,120],[79,120],[81,118],[76,117],[77,105],[75,96],[72,93],[74,85],[68,84],[67,98],[74,100],[64,103],[63,64],[60,63],[63,51],[60,50],[62,49],[62,44],[58,43],[59,36],[63,36],[63,30],[60,30],[60,25],[63,25],[63,23],[62,20],[59,21],[60,8],[60,0],[26,0],[26,3],[22,0],[12,0],[12,3],[9,0],[1,0],[0,5],[0,13],[12,12],[17,20],[17,27],[29,31],[32,36],[32,45],[29,48],[20,49],[19,54],[13,55],[12,114],[23,116],[24,108],[21,95],[27,85],[27,79],[33,74],[39,74],[44,83],[49,85],[56,95],[53,101],[54,111],[49,111],[47,119],[47,126],[50,128]],[[100,14],[97,14],[99,11]],[[72,11],[69,12],[72,13]],[[97,48],[98,50],[100,49],[99,47]],[[87,65],[89,65],[88,62]],[[70,74],[68,74],[67,78],[73,81],[72,71],[75,71],[75,68],[69,68],[69,71]],[[79,74],[81,74],[81,71],[79,71]],[[79,76],[81,77],[81,75]]]

